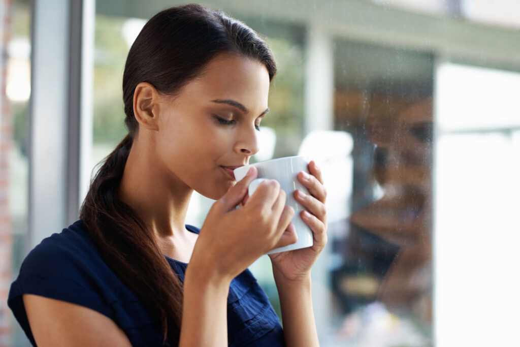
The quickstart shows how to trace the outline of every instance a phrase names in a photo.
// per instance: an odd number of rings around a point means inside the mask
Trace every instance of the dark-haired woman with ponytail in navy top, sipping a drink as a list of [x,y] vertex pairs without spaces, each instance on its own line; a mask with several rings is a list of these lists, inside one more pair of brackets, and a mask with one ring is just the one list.
[[[314,162],[298,174],[310,195],[295,192],[314,246],[270,255],[283,331],[246,269],[296,238],[279,185],[246,199],[256,171],[238,183],[232,174],[258,150],[275,72],[264,41],[223,14],[188,5],[145,25],[123,75],[128,135],[94,178],[81,220],[37,246],[11,286],[33,344],[318,344],[310,268],[327,226]],[[184,224],[193,190],[218,199],[200,230]]]

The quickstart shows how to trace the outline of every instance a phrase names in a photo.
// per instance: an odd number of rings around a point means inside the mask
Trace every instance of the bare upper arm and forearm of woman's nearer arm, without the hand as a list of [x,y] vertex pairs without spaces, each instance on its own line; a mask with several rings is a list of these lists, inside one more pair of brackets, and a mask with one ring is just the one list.
[[[198,275],[203,272],[190,268],[194,271],[186,272],[179,346],[227,345],[231,280]],[[112,319],[85,306],[32,294],[23,295],[23,304],[38,346],[131,346]]]

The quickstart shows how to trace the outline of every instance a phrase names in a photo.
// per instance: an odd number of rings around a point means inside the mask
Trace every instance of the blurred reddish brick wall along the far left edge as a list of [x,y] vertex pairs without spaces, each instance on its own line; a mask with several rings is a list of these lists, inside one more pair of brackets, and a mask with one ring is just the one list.
[[9,216],[9,162],[12,122],[6,97],[7,44],[10,39],[12,0],[0,0],[0,347],[9,346],[12,315],[7,307],[11,273],[11,220]]

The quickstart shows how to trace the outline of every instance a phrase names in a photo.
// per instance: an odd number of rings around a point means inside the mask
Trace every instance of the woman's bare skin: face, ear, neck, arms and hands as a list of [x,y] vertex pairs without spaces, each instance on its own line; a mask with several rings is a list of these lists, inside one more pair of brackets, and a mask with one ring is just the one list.
[[[135,89],[139,131],[119,195],[151,228],[165,255],[190,263],[180,346],[227,345],[231,280],[262,254],[296,241],[294,211],[276,181],[247,197],[255,169],[237,183],[222,168],[248,164],[258,151],[256,127],[268,110],[268,92],[267,69],[230,54],[215,57],[175,97],[148,83]],[[301,172],[298,179],[310,194],[294,194],[310,212],[302,218],[313,230],[314,245],[270,255],[289,346],[318,345],[310,268],[327,243],[327,194],[316,164],[308,169],[311,175]],[[193,190],[217,199],[198,236],[185,228]],[[38,345],[129,345],[112,320],[86,307],[28,294],[24,304]]]

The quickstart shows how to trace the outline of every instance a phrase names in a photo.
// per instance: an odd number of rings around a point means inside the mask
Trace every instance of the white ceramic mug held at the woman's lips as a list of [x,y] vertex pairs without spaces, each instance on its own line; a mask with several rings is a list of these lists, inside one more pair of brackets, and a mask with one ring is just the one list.
[[292,245],[276,248],[267,254],[313,246],[313,232],[300,216],[304,208],[294,199],[294,191],[296,189],[308,194],[307,188],[305,188],[297,178],[298,172],[300,171],[308,173],[307,164],[308,160],[305,157],[285,157],[240,166],[240,168],[233,170],[237,181],[245,177],[245,174],[248,173],[251,166],[254,166],[258,170],[258,178],[253,179],[249,184],[249,196],[253,195],[253,192],[262,181],[266,179],[276,179],[276,181],[280,183],[280,188],[283,189],[287,195],[285,204],[294,209],[294,217],[291,222],[296,229],[298,240]]

